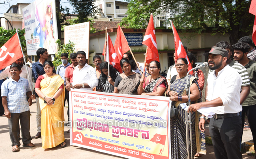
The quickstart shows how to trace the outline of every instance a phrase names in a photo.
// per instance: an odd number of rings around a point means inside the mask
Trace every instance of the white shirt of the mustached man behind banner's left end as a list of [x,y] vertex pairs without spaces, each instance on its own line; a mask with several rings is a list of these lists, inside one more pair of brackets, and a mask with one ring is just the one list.
[[95,69],[87,63],[81,70],[79,70],[78,66],[79,65],[75,67],[73,72],[72,85],[87,83],[90,88],[81,89],[93,90],[94,87],[98,86],[98,78]]

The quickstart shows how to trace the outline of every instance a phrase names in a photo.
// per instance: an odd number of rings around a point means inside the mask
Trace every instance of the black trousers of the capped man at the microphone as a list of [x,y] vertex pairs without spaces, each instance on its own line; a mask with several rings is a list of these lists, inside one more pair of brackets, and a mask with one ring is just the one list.
[[209,132],[216,159],[242,159],[240,152],[242,120],[240,116],[211,118]]

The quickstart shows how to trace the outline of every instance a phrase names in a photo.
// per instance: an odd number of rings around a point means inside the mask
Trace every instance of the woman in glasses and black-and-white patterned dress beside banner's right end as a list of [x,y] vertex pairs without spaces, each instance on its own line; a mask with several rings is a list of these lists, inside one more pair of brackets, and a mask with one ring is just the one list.
[[[186,151],[186,125],[185,125],[185,115],[186,112],[183,110],[186,106],[188,106],[188,96],[186,94],[186,75],[188,72],[188,61],[185,58],[179,58],[176,62],[176,70],[178,75],[172,77],[170,86],[167,90],[167,95],[170,96],[170,100],[172,101],[172,106],[177,107],[178,115],[176,117],[171,118],[171,145],[175,145],[171,147],[171,153],[173,159],[186,159],[187,151]],[[190,99],[191,103],[194,101],[201,102],[201,91],[200,87],[192,75],[188,75],[188,79],[190,81]],[[197,152],[196,148],[196,133],[195,129],[195,113],[191,114],[191,122],[192,122],[192,155],[194,156]],[[197,124],[198,125],[198,124]],[[188,130],[189,132],[190,130]],[[190,136],[190,135],[189,135]],[[189,139],[190,140],[190,139]],[[201,147],[201,145],[198,145]],[[189,148],[190,150],[190,148]],[[189,151],[189,156],[190,151]]]

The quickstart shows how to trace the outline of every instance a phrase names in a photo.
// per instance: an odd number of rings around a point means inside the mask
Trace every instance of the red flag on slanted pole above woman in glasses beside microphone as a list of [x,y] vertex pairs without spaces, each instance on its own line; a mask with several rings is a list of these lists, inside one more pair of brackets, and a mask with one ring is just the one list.
[[[187,53],[183,47],[183,44],[181,42],[181,39],[178,35],[178,32],[176,31],[173,23],[171,22],[172,24],[172,31],[173,31],[173,35],[174,35],[174,43],[175,43],[175,63],[177,61],[178,58],[186,58],[186,60],[188,61],[188,64],[189,64],[189,68],[188,68],[188,71],[192,69],[191,67],[191,64],[190,64],[190,60],[187,56]],[[192,75],[193,73],[190,72],[190,74]]]

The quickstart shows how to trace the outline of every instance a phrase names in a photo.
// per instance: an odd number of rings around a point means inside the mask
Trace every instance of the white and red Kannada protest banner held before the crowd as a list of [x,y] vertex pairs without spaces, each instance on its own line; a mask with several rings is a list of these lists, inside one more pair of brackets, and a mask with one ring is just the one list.
[[69,92],[70,144],[130,159],[171,159],[169,98]]

